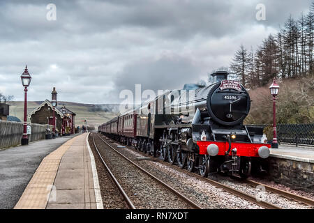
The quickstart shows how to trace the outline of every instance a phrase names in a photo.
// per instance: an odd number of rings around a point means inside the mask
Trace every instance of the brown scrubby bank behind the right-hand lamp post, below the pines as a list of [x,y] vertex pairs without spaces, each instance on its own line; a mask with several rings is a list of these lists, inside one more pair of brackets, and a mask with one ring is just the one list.
[[[249,90],[251,110],[246,124],[272,124],[273,102],[269,92],[269,83],[257,89]],[[281,87],[276,101],[277,123],[313,123],[314,122],[314,76],[296,79],[278,79]]]

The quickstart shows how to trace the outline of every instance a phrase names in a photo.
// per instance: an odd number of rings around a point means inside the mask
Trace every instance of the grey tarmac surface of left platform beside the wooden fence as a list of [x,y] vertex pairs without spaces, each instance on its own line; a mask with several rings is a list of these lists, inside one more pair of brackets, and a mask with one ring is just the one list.
[[[0,209],[14,208],[22,196],[29,180],[43,158],[59,148],[74,135],[58,137],[57,139],[33,141],[27,146],[15,146],[0,151]],[[44,169],[56,170],[56,162],[50,160]],[[45,178],[39,183],[33,183],[31,187],[41,187]]]

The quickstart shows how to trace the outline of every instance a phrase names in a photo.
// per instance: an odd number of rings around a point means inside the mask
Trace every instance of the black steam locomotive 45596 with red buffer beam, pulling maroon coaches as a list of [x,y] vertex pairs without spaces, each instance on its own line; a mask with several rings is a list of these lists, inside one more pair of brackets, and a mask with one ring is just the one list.
[[263,128],[243,124],[251,99],[227,75],[215,72],[209,86],[167,91],[100,125],[98,132],[188,171],[198,169],[204,177],[219,172],[247,178],[252,169],[262,171],[270,144]]

